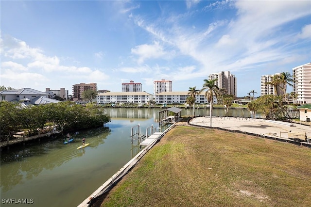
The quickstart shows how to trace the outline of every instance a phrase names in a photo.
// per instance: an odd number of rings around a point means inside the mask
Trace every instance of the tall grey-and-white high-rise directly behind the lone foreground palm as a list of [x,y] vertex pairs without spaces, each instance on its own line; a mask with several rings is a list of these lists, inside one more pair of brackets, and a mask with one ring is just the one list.
[[213,79],[217,79],[216,85],[218,88],[225,89],[226,94],[237,96],[237,78],[230,71],[209,74],[208,80]]

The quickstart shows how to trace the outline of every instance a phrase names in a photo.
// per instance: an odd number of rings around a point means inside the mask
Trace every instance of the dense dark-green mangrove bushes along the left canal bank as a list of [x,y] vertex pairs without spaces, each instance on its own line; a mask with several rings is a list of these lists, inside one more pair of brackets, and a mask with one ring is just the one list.
[[65,131],[80,130],[103,126],[111,121],[104,108],[94,104],[84,107],[71,101],[28,106],[1,101],[0,111],[1,141],[12,138],[21,129],[31,136],[48,132],[54,127]]

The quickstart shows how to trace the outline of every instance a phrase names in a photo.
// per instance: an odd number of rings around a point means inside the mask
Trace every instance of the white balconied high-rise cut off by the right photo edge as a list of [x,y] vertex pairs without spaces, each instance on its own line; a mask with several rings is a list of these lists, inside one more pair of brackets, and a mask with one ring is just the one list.
[[293,91],[298,95],[294,103],[311,103],[311,63],[293,68]]

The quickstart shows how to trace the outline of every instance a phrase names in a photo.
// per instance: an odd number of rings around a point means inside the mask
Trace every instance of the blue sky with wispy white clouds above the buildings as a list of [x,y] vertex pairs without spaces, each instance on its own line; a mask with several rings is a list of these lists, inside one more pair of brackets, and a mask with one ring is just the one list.
[[238,96],[260,95],[260,76],[311,62],[310,0],[1,0],[0,13],[0,85],[16,89],[133,80],[153,94],[155,80],[188,91],[230,71]]

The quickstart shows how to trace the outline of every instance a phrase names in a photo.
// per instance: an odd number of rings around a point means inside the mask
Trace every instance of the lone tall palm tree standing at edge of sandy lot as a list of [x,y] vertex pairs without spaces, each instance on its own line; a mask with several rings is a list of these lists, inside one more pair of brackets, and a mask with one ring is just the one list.
[[207,80],[204,79],[203,88],[200,90],[199,93],[205,92],[205,97],[207,101],[209,101],[209,119],[210,119],[210,127],[212,127],[212,112],[213,112],[213,99],[214,96],[216,98],[219,96],[219,88],[217,85],[215,85],[217,79]]

